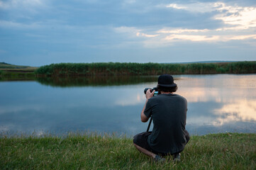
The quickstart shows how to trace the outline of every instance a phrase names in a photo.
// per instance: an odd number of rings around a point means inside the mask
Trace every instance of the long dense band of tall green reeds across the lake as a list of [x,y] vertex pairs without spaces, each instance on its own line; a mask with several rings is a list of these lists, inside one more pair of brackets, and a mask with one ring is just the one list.
[[226,63],[60,63],[40,67],[38,77],[86,75],[159,75],[159,74],[251,74],[256,73],[256,62]]

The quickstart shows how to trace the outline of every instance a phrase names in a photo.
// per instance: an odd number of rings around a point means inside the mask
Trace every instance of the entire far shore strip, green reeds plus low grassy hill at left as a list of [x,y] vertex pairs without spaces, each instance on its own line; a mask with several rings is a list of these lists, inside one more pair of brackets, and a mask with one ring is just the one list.
[[0,62],[0,80],[36,77],[88,77],[160,74],[255,74],[256,62],[218,63],[60,63],[42,67],[18,66]]

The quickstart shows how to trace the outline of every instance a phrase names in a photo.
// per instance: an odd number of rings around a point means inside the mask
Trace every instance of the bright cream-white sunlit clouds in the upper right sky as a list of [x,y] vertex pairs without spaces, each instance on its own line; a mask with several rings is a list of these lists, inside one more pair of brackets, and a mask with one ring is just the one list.
[[[222,21],[223,25],[216,29],[189,29],[189,28],[135,28],[128,31],[137,38],[148,38],[142,43],[145,47],[160,47],[172,45],[172,42],[227,42],[231,40],[256,39],[256,7],[230,6],[223,2],[196,2],[192,4],[169,4],[167,8],[190,11],[192,13],[213,12],[214,21]],[[210,18],[209,18],[210,19]],[[127,29],[127,28],[126,28]],[[134,37],[134,36],[133,36]],[[139,39],[138,39],[139,40]],[[250,45],[255,43],[250,42]]]

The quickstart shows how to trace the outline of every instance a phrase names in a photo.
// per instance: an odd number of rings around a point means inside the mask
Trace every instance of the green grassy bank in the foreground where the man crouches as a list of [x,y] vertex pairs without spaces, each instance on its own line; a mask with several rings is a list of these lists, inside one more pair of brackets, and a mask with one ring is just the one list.
[[255,169],[255,143],[256,134],[192,136],[181,162],[155,164],[126,137],[2,136],[0,169]]

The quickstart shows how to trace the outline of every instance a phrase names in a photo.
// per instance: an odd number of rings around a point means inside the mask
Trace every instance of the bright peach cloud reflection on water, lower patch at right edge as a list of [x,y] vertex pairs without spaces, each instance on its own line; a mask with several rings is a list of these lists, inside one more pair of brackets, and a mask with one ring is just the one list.
[[214,114],[218,115],[218,118],[213,122],[213,125],[256,120],[256,101],[238,100],[234,103],[228,103],[222,108],[217,108]]

